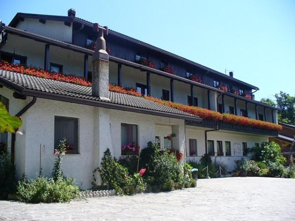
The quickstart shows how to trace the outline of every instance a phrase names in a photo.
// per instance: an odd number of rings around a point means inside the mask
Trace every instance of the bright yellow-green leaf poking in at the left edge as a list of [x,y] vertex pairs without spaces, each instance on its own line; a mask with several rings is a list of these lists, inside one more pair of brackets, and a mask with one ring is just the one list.
[[10,115],[5,105],[0,102],[0,133],[15,133],[22,126],[22,123],[20,117]]

